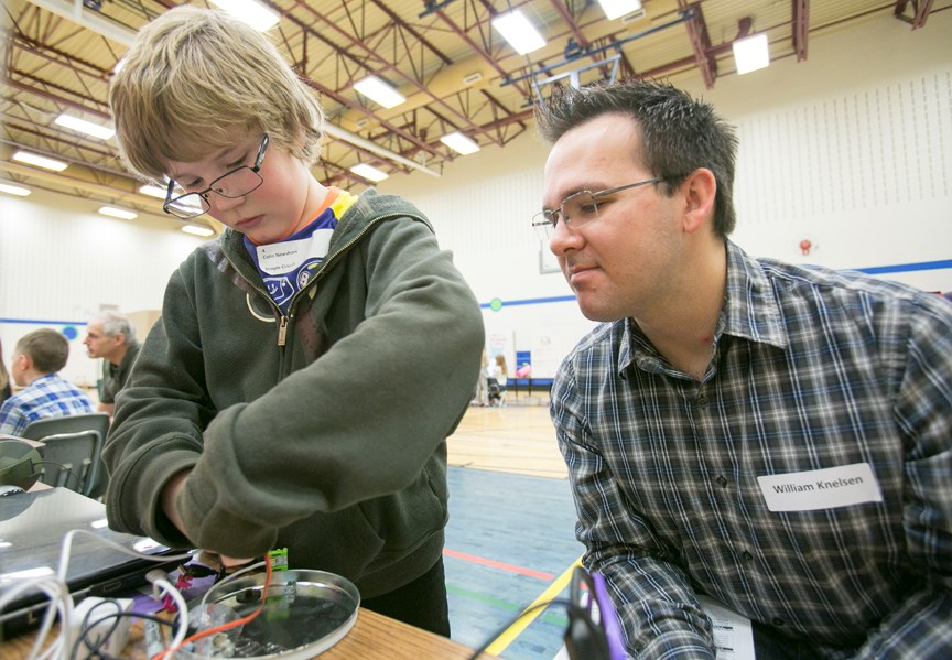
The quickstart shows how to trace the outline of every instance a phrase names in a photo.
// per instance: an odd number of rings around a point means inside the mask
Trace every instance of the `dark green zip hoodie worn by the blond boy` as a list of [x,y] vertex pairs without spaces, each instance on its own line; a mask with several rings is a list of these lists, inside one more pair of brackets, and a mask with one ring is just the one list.
[[[447,520],[446,442],[485,340],[428,220],[365,192],[284,316],[226,230],[172,275],[104,458],[113,529],[230,556],[289,549],[374,597],[428,571]],[[183,535],[161,491],[178,498]]]

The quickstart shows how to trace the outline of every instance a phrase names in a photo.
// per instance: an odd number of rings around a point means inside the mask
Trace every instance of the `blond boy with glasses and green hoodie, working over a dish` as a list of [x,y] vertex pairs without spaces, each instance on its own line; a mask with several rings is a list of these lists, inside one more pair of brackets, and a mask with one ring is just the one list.
[[[484,333],[429,221],[317,182],[320,106],[223,12],[147,25],[110,101],[130,169],[166,181],[165,210],[227,227],[172,275],[118,397],[110,524],[226,558],[286,548],[292,569],[344,575],[364,606],[448,636],[445,439]],[[407,381],[421,360],[440,378]]]

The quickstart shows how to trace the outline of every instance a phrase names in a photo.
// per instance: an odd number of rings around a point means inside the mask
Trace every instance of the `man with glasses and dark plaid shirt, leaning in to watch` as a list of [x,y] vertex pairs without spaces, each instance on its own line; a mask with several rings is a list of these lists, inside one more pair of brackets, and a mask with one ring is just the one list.
[[551,413],[638,658],[952,658],[952,307],[727,239],[736,138],[662,84],[566,89],[536,223],[586,317]]

